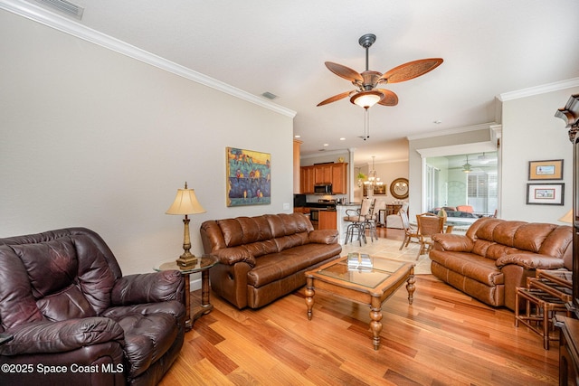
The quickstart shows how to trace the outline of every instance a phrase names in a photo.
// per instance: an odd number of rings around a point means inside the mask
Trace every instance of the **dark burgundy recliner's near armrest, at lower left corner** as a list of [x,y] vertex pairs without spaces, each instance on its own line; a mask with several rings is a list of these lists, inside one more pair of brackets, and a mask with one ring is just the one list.
[[108,317],[33,322],[10,328],[5,333],[14,335],[14,339],[0,346],[1,355],[64,353],[110,341],[125,345],[122,327]]

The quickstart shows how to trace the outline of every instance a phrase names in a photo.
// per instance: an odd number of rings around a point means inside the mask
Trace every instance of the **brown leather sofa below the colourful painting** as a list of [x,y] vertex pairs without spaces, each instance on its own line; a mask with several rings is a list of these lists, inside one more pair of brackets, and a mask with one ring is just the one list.
[[337,231],[314,231],[303,213],[204,221],[205,253],[220,262],[209,277],[214,292],[242,309],[259,308],[306,284],[305,272],[337,259]]

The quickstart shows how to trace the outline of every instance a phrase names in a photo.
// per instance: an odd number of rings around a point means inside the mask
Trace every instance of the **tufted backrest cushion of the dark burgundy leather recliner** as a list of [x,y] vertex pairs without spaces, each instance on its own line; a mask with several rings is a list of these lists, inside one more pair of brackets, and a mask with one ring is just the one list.
[[[16,315],[20,323],[23,319],[30,322],[43,317],[52,321],[91,317],[100,315],[111,304],[113,272],[88,236],[3,246],[0,259],[3,267],[12,267],[7,280],[14,285],[6,287],[23,289],[22,293],[15,291],[6,297],[0,294],[3,307],[19,310],[3,315]],[[3,318],[2,323],[9,328],[10,317]]]

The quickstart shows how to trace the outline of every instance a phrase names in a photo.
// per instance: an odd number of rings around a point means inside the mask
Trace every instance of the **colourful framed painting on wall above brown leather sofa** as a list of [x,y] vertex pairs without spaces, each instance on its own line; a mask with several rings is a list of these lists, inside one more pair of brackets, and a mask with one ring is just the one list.
[[271,203],[271,154],[226,147],[227,206]]

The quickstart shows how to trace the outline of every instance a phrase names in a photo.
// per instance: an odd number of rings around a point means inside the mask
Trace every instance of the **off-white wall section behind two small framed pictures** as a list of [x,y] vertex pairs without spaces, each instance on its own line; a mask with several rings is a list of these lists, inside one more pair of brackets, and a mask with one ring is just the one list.
[[[573,148],[565,122],[555,118],[579,88],[556,90],[503,102],[502,217],[523,221],[557,221],[568,212],[573,197]],[[561,181],[529,181],[528,162],[563,159]],[[565,206],[527,205],[528,183],[564,183]]]

